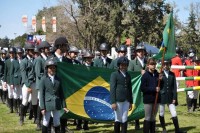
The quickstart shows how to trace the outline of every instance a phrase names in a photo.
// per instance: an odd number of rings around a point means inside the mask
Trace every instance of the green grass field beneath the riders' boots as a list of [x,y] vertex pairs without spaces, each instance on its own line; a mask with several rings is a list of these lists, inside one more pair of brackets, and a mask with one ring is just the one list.
[[[179,119],[179,124],[182,130],[187,131],[188,133],[200,133],[200,110],[192,113],[187,112],[185,106],[185,92],[180,92],[178,94],[179,105],[177,106],[177,114]],[[174,126],[171,120],[170,112],[166,108],[165,121],[167,131],[170,133],[174,132]],[[0,103],[0,133],[37,133],[35,131],[36,125],[33,124],[33,120],[25,119],[25,124],[23,126],[19,125],[19,117],[15,114],[8,114],[8,108],[5,104]],[[142,122],[140,120],[141,129],[135,131],[134,123],[129,122],[128,133],[142,133]],[[89,124],[90,130],[88,131],[76,131],[75,126],[72,125],[72,121],[68,123],[69,129],[72,129],[75,133],[89,132],[89,133],[111,133],[113,132],[112,123],[98,123],[98,124]],[[156,132],[161,132],[161,127],[158,120],[156,121]]]

